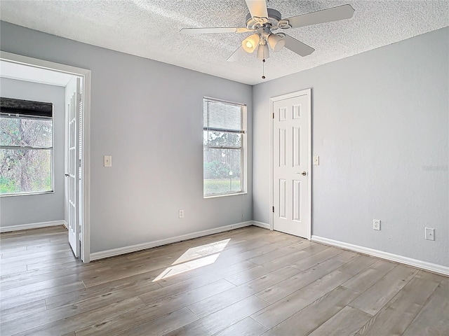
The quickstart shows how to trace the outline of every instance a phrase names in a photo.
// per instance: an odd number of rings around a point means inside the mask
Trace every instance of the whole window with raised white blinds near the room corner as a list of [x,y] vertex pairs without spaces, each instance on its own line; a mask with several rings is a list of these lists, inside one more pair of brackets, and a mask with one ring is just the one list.
[[245,191],[246,105],[203,99],[203,195]]

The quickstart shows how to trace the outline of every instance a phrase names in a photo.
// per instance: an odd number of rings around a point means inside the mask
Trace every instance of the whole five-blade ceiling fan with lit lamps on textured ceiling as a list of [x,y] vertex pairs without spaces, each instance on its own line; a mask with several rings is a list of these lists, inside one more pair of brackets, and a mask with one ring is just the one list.
[[275,33],[273,31],[349,19],[354,14],[354,8],[351,5],[343,5],[282,19],[278,10],[267,8],[265,0],[246,0],[246,5],[250,10],[250,13],[246,15],[246,27],[183,28],[180,32],[182,34],[252,32],[253,34],[245,38],[241,46],[227,60],[230,62],[236,61],[243,57],[246,52],[252,53],[257,49],[257,58],[262,59],[264,62],[269,57],[268,46],[274,51],[279,51],[285,46],[301,56],[310,55],[315,51],[314,48],[292,36],[288,36],[283,32]]

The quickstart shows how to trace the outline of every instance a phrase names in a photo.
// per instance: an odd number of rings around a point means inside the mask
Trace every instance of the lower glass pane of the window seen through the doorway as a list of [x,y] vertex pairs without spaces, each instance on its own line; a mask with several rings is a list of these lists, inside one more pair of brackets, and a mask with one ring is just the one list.
[[0,194],[51,191],[50,149],[0,149]]

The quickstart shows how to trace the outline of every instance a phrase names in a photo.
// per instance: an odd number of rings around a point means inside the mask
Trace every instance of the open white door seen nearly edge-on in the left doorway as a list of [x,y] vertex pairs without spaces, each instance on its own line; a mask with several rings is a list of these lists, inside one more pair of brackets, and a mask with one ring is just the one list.
[[79,125],[81,115],[81,85],[80,78],[73,77],[65,87],[66,100],[66,209],[67,228],[69,230],[69,243],[75,257],[80,253],[81,223],[79,216],[79,183],[81,178],[79,156]]

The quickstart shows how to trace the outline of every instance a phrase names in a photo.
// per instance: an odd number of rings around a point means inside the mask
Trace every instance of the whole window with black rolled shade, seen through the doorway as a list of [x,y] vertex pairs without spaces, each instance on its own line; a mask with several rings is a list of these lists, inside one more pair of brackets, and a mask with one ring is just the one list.
[[0,98],[0,195],[53,191],[53,104]]

